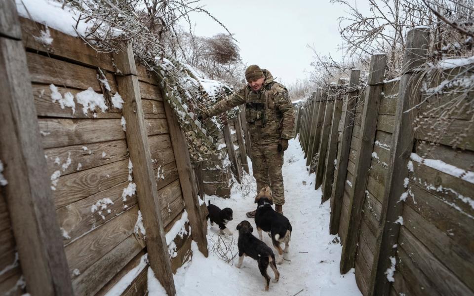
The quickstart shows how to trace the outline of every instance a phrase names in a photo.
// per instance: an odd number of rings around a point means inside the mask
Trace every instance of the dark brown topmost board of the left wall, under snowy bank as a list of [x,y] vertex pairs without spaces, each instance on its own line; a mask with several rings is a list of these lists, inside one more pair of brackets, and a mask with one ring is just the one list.
[[73,37],[52,28],[48,28],[52,43],[45,46],[39,38],[45,26],[26,18],[20,18],[23,33],[23,44],[26,48],[40,52],[48,52],[52,56],[75,61],[90,67],[100,67],[109,72],[115,72],[112,55],[98,53],[88,46],[81,38]]

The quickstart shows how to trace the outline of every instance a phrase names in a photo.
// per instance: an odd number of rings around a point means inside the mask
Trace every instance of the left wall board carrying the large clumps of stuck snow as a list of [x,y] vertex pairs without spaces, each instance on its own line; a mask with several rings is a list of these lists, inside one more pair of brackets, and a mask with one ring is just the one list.
[[[51,99],[51,88],[49,85],[45,84],[36,84],[32,85],[33,88],[33,96],[35,97],[35,107],[38,116],[42,117],[62,117],[62,118],[97,118],[97,119],[104,119],[104,118],[118,118],[120,119],[122,114],[121,110],[110,107],[107,111],[102,112],[99,107],[96,107],[94,111],[87,111],[84,113],[83,106],[77,103],[77,99],[75,99],[75,111],[73,112],[72,108],[64,107],[61,108],[59,102],[53,102]],[[64,88],[62,86],[56,85],[58,92],[63,96],[66,93],[71,93],[74,97],[82,90],[72,89],[72,88]]]

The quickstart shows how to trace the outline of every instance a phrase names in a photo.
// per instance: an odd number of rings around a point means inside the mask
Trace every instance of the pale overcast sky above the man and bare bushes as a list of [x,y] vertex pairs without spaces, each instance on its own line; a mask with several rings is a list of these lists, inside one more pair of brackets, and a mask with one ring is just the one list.
[[[336,59],[342,44],[338,17],[344,13],[329,0],[200,0],[204,9],[235,34],[247,65],[270,70],[278,81],[291,84],[311,69],[313,52]],[[225,30],[203,13],[191,14],[197,36],[210,37]]]

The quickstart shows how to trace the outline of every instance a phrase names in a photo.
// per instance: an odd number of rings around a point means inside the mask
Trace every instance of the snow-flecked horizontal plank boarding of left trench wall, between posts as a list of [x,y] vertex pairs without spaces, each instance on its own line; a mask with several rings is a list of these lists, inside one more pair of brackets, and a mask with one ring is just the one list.
[[[77,101],[73,111],[52,100],[57,92],[63,97],[76,96],[88,89],[106,98],[113,96],[118,89],[116,69],[111,55],[97,54],[79,38],[49,29],[53,43],[45,47],[34,38],[44,30],[42,25],[27,19],[21,19],[21,25],[41,146],[73,289],[75,295],[102,295],[146,253],[143,235],[134,231],[139,212],[137,196],[122,194],[134,180],[121,110],[109,106],[106,111],[85,113]],[[99,81],[100,71],[107,78],[107,86]],[[185,210],[178,169],[160,89],[144,68],[139,68],[138,77],[160,215],[164,229],[169,230]],[[3,270],[15,260],[15,244],[1,195],[0,234]],[[189,259],[191,239],[190,235],[175,239],[173,271]],[[2,273],[0,290],[8,291],[20,276],[16,265]],[[146,273],[132,285],[145,291]]]

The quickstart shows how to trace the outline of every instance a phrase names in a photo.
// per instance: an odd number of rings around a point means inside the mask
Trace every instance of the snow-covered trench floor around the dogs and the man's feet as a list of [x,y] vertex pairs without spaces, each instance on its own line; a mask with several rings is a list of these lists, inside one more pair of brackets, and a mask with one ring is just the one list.
[[[305,163],[298,141],[291,140],[283,166],[286,198],[283,212],[290,220],[293,232],[290,251],[284,255],[284,263],[277,265],[280,280],[270,282],[268,295],[361,295],[354,269],[345,275],[339,274],[342,247],[333,242],[337,236],[329,234],[329,202],[321,205],[321,191],[314,189],[315,175],[308,175]],[[228,224],[234,235],[220,236],[217,225],[208,226],[209,257],[199,253],[193,242],[193,259],[174,276],[177,295],[266,295],[262,292],[265,285],[257,261],[246,257],[240,269],[236,267],[237,224],[248,220],[255,228],[253,219],[245,216],[247,211],[255,209],[255,180],[246,175],[243,184],[243,188],[235,186],[230,199],[206,196],[206,203],[210,199],[220,208],[234,210],[234,220]],[[254,235],[258,237],[256,230]],[[266,234],[264,241],[272,246]],[[224,243],[231,247],[227,250]],[[224,255],[219,255],[219,250]],[[233,256],[229,263],[222,259]],[[274,277],[270,268],[268,274]]]

